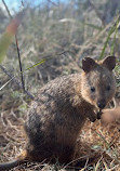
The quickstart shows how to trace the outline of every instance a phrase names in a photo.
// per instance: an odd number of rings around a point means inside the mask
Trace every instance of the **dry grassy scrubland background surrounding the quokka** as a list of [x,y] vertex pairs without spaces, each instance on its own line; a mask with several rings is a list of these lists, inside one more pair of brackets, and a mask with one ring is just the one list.
[[[1,1],[0,36],[2,37],[11,18]],[[5,2],[5,0],[4,0]],[[67,0],[67,1],[18,1],[16,8],[11,9],[14,17],[25,10],[24,18],[17,29],[17,41],[22,60],[25,89],[36,96],[38,90],[48,81],[81,70],[81,60],[93,57],[102,60],[108,55],[117,56],[115,75],[117,79],[116,103],[119,105],[120,86],[120,0]],[[44,63],[31,67],[45,60]],[[6,56],[1,66],[5,71],[21,81],[19,65],[15,40],[10,44]],[[10,77],[0,67],[0,87]],[[26,118],[31,98],[19,89],[14,80],[0,90],[0,162],[17,156],[24,145],[22,124]],[[112,106],[109,106],[112,107]],[[92,166],[82,170],[119,170],[120,159],[120,121],[104,127],[101,121],[86,122],[78,140],[78,152],[88,155],[92,149],[105,152],[110,156],[101,157]],[[80,147],[80,149],[79,149]],[[40,163],[17,167],[14,170],[40,170]],[[64,167],[42,163],[42,170],[65,170]],[[74,169],[72,169],[74,170]]]

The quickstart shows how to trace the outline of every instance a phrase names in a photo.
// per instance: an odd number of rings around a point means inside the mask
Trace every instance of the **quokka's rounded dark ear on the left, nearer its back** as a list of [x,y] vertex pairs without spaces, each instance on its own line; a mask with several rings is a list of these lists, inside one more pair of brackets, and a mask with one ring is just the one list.
[[95,66],[97,66],[97,64],[95,63],[95,61],[93,58],[85,57],[85,58],[82,60],[82,69],[85,73],[89,73],[90,70],[95,68]]

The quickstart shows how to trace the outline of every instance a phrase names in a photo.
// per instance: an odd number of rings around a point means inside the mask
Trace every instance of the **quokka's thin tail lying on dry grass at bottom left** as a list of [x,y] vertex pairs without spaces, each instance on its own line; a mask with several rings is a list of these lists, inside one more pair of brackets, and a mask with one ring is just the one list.
[[27,162],[27,152],[24,150],[15,160],[0,163],[0,171],[10,170],[18,165]]

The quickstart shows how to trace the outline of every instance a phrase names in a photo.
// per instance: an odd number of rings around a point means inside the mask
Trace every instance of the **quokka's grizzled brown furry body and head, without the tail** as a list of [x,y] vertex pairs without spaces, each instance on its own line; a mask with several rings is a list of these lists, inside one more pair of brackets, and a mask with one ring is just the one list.
[[115,64],[114,56],[99,63],[86,57],[81,75],[56,78],[39,90],[25,122],[28,141],[24,155],[17,159],[19,163],[44,159],[67,163],[74,159],[77,137],[86,118],[95,121],[98,103],[104,102],[103,108],[115,95]]

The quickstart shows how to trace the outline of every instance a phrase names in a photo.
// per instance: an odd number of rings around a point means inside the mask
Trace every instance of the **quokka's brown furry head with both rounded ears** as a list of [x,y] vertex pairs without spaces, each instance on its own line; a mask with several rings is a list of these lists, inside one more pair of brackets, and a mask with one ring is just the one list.
[[116,93],[112,73],[115,66],[115,56],[108,56],[99,62],[90,57],[82,60],[81,95],[99,109],[103,109]]

